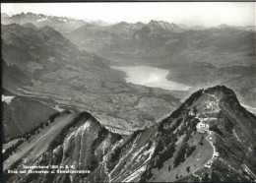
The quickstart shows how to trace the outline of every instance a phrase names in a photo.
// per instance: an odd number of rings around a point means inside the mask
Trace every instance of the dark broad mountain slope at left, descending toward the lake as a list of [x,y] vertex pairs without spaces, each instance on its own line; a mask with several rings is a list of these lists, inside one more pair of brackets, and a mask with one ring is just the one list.
[[108,69],[99,57],[79,49],[60,32],[48,26],[38,29],[32,24],[2,26],[2,57],[3,86],[10,91],[25,83],[32,86],[32,81],[36,80],[46,82],[44,74],[67,66],[85,70]]

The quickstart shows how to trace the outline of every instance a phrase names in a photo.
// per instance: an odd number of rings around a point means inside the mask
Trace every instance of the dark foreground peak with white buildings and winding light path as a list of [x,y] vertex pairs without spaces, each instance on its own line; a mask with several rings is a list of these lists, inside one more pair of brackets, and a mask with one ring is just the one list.
[[[225,87],[198,91],[192,94],[183,107],[187,109],[188,114],[185,123],[207,123],[210,125],[209,131],[205,130],[203,131],[205,133],[201,133],[197,130],[191,133],[195,126],[187,129],[184,124],[183,128],[187,130],[182,139],[183,143],[177,141],[179,142],[177,152],[160,165],[156,165],[156,161],[153,160],[148,166],[144,179],[150,181],[253,180],[256,160],[253,141],[256,118],[239,105],[233,91]],[[168,137],[169,132],[173,130],[171,120],[163,122],[161,129]],[[196,147],[192,153],[191,147]],[[158,158],[164,152],[169,153],[165,149]],[[217,152],[220,153],[219,156],[215,156]],[[247,166],[254,174],[248,173]]]

